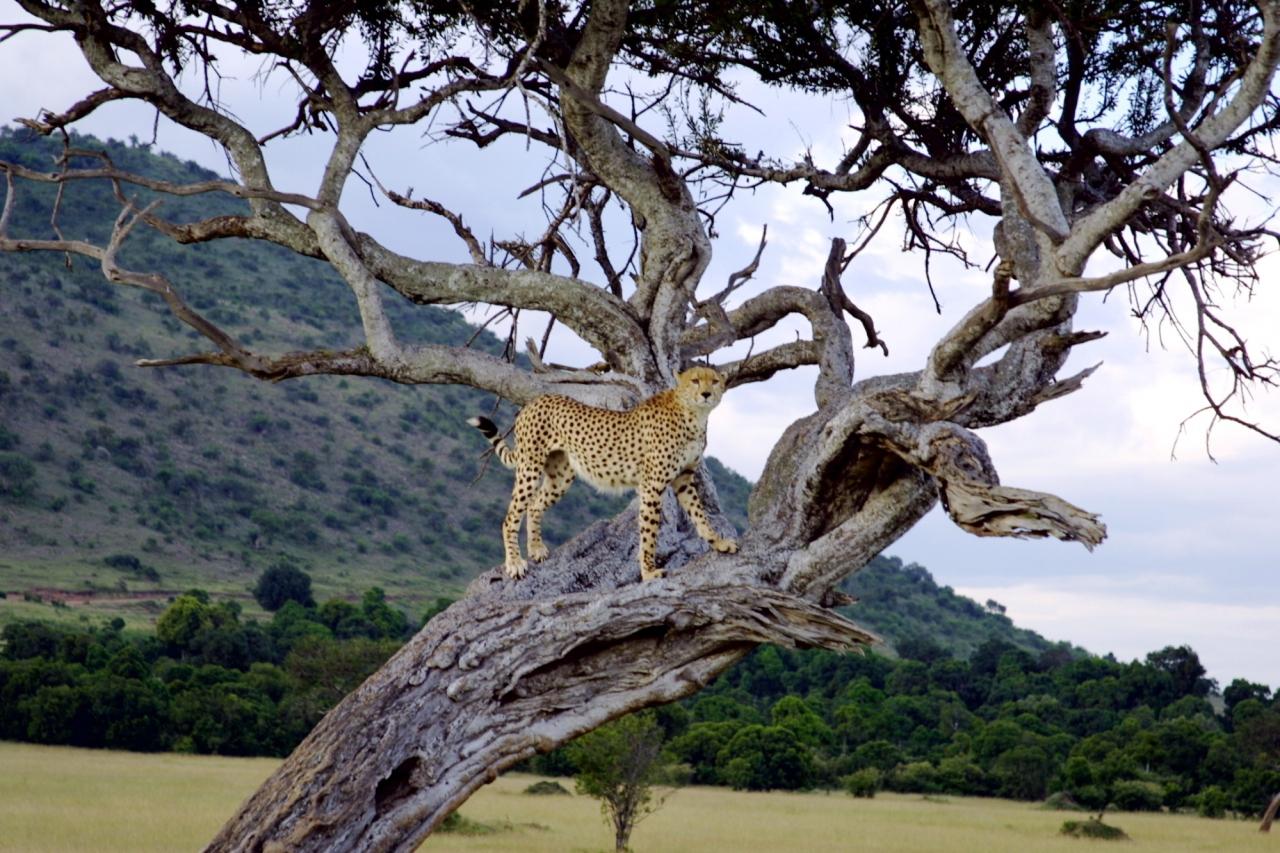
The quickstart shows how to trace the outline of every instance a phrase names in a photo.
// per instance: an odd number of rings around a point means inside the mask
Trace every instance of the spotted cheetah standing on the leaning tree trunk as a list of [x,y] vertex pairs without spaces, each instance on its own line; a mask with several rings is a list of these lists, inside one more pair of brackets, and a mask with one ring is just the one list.
[[[628,411],[596,409],[576,400],[547,396],[516,415],[516,448],[507,446],[488,418],[467,423],[493,444],[498,460],[516,470],[511,506],[502,524],[508,578],[525,576],[520,555],[520,520],[529,512],[529,558],[547,558],[543,514],[575,476],[602,492],[636,489],[640,494],[640,579],[662,578],[655,564],[662,493],[668,485],[692,520],[698,535],[721,553],[737,543],[719,537],[707,520],[694,484],[694,467],[707,447],[707,416],[724,393],[724,377],[712,368],[690,368],[675,388],[641,401]],[[539,487],[539,478],[541,485]]]

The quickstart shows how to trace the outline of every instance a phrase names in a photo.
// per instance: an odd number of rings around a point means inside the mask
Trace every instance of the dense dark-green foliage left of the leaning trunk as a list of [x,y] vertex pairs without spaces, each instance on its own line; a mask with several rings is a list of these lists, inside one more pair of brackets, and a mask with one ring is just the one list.
[[266,624],[195,589],[169,605],[154,637],[123,628],[6,625],[0,738],[283,756],[410,634],[378,588],[358,607],[288,601]]

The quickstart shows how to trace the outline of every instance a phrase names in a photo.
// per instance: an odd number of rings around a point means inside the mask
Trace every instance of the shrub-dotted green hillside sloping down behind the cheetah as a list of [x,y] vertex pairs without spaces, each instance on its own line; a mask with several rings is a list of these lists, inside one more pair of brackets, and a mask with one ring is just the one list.
[[[168,181],[218,177],[142,145],[76,143]],[[0,159],[51,169],[59,149],[0,129]],[[18,182],[18,193],[10,233],[51,236],[54,190]],[[69,238],[101,241],[118,207],[105,182],[77,183],[59,224]],[[188,222],[242,209],[201,196],[165,199],[160,213]],[[138,229],[122,260],[165,272],[196,309],[264,351],[360,339],[347,286],[328,265],[282,248],[234,240],[184,247]],[[78,619],[86,605],[151,621],[191,587],[236,597],[252,615],[248,590],[280,560],[312,575],[317,599],[353,601],[376,584],[421,613],[500,561],[509,474],[489,466],[481,475],[484,444],[465,424],[494,406],[492,396],[361,378],[269,384],[207,366],[137,369],[138,357],[207,342],[157,297],[109,284],[84,259],[68,268],[49,252],[0,254],[0,590],[9,593],[0,621]],[[389,311],[406,339],[461,345],[475,336],[472,346],[502,348],[454,311],[403,301]],[[709,467],[745,526],[750,484],[716,460]],[[548,515],[549,540],[625,501],[570,489]],[[846,588],[861,598],[850,615],[891,644],[931,638],[968,652],[995,637],[1030,651],[1048,646],[893,558],[878,558]],[[50,606],[64,601],[73,607]]]

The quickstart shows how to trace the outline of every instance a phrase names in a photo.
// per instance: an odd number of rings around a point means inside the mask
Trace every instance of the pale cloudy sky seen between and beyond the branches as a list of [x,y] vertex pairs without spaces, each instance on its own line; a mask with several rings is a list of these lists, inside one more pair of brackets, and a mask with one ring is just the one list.
[[[20,17],[10,0],[0,0],[0,20]],[[261,81],[257,70],[256,64],[229,61],[221,86],[238,118],[265,133],[284,124],[293,108],[287,87],[274,78]],[[0,44],[0,122],[33,117],[41,108],[63,110],[99,87],[69,38],[26,35]],[[847,104],[767,91],[753,95],[765,114],[737,114],[726,126],[749,149],[783,156],[812,149],[819,163],[838,158],[855,119]],[[150,141],[154,119],[154,111],[136,105],[109,105],[77,128]],[[207,140],[164,120],[155,128],[157,150],[227,173],[225,158]],[[269,165],[276,186],[314,190],[325,150],[323,137],[273,145]],[[536,200],[516,196],[538,179],[544,160],[521,142],[476,154],[428,145],[420,132],[410,129],[376,134],[367,155],[385,186],[412,187],[453,206],[483,237],[541,231]],[[394,250],[466,260],[461,243],[440,220],[387,202],[374,205],[358,182],[349,186],[343,204],[357,228]],[[828,216],[819,201],[800,195],[799,186],[740,195],[718,218],[714,257],[701,292],[719,289],[730,273],[751,259],[764,224],[768,247],[755,279],[739,298],[774,284],[817,287],[831,238],[851,240],[854,220],[869,201],[832,196],[832,204],[835,214]],[[1240,213],[1257,216],[1270,204],[1256,200]],[[989,227],[989,222],[973,220],[959,234],[982,261],[991,256]],[[887,227],[844,279],[890,347],[888,357],[878,350],[856,351],[859,379],[918,370],[938,336],[989,289],[989,273],[936,263],[938,314],[920,257],[905,254],[890,232]],[[620,245],[614,254],[625,251]],[[1280,293],[1274,284],[1280,279],[1280,259],[1266,257],[1262,269],[1260,292],[1228,311],[1252,345],[1274,351],[1280,345]],[[1002,483],[1050,492],[1101,514],[1107,539],[1089,552],[1056,540],[977,538],[934,510],[888,553],[925,566],[940,584],[961,594],[998,601],[1018,625],[1050,639],[1120,660],[1190,644],[1222,686],[1234,678],[1280,686],[1280,596],[1275,593],[1280,444],[1221,425],[1212,433],[1211,460],[1206,419],[1183,426],[1202,405],[1194,359],[1167,329],[1144,332],[1130,318],[1123,292],[1083,300],[1076,328],[1107,336],[1078,347],[1061,375],[1101,361],[1098,371],[1076,393],[980,434]],[[799,324],[780,327],[755,342],[756,351],[800,329]],[[521,337],[538,330],[540,325],[530,323]],[[860,347],[860,328],[854,328],[854,339]],[[584,365],[596,360],[567,333],[552,338],[548,357]],[[813,409],[813,373],[808,370],[736,388],[712,415],[708,452],[754,479],[786,425]],[[1280,429],[1280,394],[1258,393],[1248,411]]]

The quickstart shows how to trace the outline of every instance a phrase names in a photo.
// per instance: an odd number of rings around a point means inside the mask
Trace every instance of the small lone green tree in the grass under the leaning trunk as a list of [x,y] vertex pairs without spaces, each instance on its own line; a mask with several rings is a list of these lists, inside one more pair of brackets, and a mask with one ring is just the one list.
[[568,745],[577,792],[600,800],[618,853],[627,849],[635,825],[664,802],[657,797],[667,776],[662,747],[663,730],[652,711],[614,720]]

